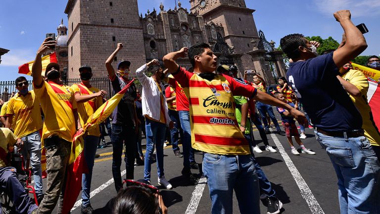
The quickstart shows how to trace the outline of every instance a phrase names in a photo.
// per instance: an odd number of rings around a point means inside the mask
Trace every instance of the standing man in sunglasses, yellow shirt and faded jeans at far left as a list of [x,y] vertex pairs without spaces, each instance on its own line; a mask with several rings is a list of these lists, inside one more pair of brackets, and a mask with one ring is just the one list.
[[18,77],[15,81],[18,93],[9,101],[6,108],[5,128],[14,126],[14,134],[24,142],[24,157],[30,155],[33,170],[37,200],[43,198],[42,171],[41,171],[41,136],[42,118],[40,100],[33,90],[28,90],[28,81],[25,77]]

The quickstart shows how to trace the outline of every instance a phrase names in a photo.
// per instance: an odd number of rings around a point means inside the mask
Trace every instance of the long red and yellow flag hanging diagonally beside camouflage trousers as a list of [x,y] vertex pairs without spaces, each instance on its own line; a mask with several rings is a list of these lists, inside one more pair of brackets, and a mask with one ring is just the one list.
[[65,195],[63,197],[62,213],[69,213],[74,206],[79,192],[82,190],[82,173],[88,171],[83,154],[83,135],[91,128],[99,126],[100,123],[110,116],[133,82],[134,80],[129,82],[121,91],[103,103],[103,105],[101,105],[87,120],[87,123],[83,126],[83,131],[78,131],[74,135],[73,143],[71,144],[69,163],[66,169],[66,187]]

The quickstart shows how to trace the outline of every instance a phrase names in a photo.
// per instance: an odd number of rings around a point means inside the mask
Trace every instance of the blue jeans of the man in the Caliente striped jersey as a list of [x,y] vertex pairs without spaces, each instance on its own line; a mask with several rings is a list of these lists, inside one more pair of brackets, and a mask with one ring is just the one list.
[[251,155],[204,153],[203,173],[211,198],[212,214],[231,214],[233,191],[242,214],[259,214],[259,182]]

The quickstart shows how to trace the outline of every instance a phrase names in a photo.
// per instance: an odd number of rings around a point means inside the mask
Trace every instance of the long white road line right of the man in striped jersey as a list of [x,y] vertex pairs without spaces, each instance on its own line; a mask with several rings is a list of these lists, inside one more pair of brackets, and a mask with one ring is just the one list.
[[[272,128],[270,128],[271,131],[273,131]],[[299,173],[297,168],[294,166],[293,162],[291,161],[289,155],[285,152],[285,149],[283,145],[280,143],[280,140],[277,138],[275,134],[271,134],[271,137],[273,141],[275,142],[277,148],[280,151],[281,156],[283,156],[283,159],[285,161],[285,164],[287,168],[289,169],[291,175],[293,176],[295,183],[297,184],[302,197],[305,199],[307,205],[309,206],[312,214],[325,214],[323,212],[321,206],[319,205],[317,199],[315,199],[313,193],[311,192],[309,186],[303,179],[302,175]]]

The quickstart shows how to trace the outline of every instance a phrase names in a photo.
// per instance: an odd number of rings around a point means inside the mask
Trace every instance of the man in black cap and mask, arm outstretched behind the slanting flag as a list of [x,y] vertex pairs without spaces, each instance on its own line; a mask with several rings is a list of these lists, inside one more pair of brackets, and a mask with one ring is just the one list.
[[[87,122],[89,117],[94,114],[103,104],[103,96],[107,94],[104,90],[91,86],[91,77],[93,76],[90,66],[84,65],[79,68],[81,78],[80,84],[74,84],[71,88],[74,91],[75,100],[78,103],[78,114],[81,121],[81,126]],[[100,130],[99,126],[88,131],[84,138],[84,154],[88,173],[82,175],[82,208],[81,213],[91,214],[94,209],[90,204],[90,188],[93,175],[94,160],[97,144],[99,142]]]

